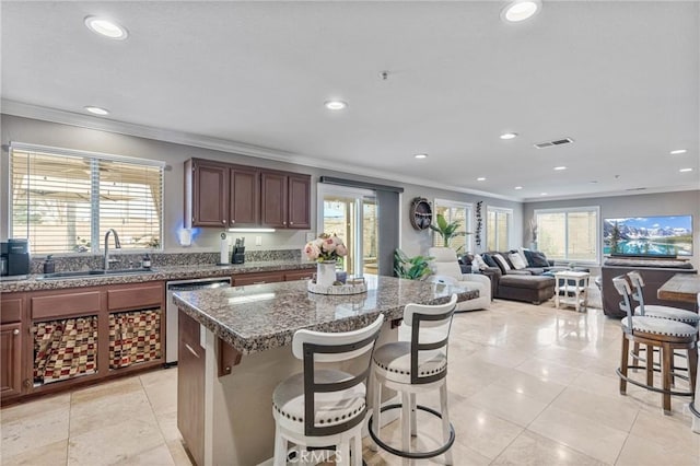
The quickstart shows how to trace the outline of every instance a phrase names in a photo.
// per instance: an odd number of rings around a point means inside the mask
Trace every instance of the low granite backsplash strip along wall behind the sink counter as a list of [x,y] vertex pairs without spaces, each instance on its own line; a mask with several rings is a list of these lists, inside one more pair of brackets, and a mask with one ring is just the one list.
[[[114,251],[114,249],[113,249]],[[144,254],[109,254],[117,260],[110,269],[141,267]],[[212,265],[219,261],[219,253],[149,253],[151,267]],[[245,253],[246,263],[268,260],[301,260],[301,249],[252,251]],[[55,257],[56,271],[92,270],[104,267],[103,255],[79,255]],[[44,257],[32,258],[32,273],[44,272]]]

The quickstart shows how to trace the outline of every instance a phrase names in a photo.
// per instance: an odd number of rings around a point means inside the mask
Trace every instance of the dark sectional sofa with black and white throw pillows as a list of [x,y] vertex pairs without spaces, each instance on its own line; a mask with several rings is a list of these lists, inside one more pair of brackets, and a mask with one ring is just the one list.
[[555,295],[555,278],[551,273],[567,269],[556,267],[553,260],[547,259],[542,253],[528,249],[487,252],[479,258],[468,255],[463,256],[460,261],[465,268],[476,266],[490,278],[494,298],[533,304],[540,304]]

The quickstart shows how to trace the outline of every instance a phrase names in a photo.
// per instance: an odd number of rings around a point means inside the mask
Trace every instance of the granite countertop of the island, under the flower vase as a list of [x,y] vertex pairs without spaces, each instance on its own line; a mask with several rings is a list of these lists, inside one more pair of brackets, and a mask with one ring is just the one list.
[[305,281],[182,291],[178,307],[240,351],[249,354],[291,345],[301,328],[348,331],[371,324],[382,313],[400,318],[408,303],[440,304],[457,293],[478,298],[468,287],[365,277],[368,291],[350,295],[314,294]]

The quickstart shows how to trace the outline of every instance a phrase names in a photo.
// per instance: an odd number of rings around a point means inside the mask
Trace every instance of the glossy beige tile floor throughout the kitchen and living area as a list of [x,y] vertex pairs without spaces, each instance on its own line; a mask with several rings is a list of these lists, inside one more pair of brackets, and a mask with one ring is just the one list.
[[[618,394],[619,347],[619,323],[594,308],[497,301],[490,311],[457,314],[448,375],[455,464],[699,465],[686,399],[674,398],[673,416],[664,416],[658,394],[634,386]],[[177,369],[160,370],[7,407],[0,463],[189,465],[176,381]],[[390,441],[395,424],[383,430]],[[419,429],[418,444],[439,440],[434,420],[419,418]],[[364,458],[401,464],[366,442]]]

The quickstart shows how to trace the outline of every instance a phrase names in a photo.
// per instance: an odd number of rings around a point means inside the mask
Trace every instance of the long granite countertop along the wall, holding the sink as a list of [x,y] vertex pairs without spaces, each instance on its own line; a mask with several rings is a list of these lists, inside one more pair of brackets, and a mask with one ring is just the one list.
[[183,280],[188,278],[229,277],[237,273],[261,271],[313,269],[316,263],[306,260],[264,260],[225,266],[164,266],[154,267],[150,272],[131,272],[128,275],[97,275],[45,280],[42,275],[30,275],[23,278],[2,277],[0,292],[61,290],[66,288],[96,287],[102,284],[141,283],[158,280]]

